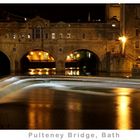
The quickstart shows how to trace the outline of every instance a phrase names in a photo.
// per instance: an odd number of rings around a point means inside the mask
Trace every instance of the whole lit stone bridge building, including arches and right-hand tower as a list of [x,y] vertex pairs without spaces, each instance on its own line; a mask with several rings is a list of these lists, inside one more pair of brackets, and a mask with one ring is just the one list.
[[[88,19],[52,23],[37,16],[23,22],[1,21],[1,73],[51,68],[65,74],[73,66],[91,68],[87,72],[131,72],[140,57],[140,5],[108,4],[106,22]],[[122,35],[127,38],[124,50],[118,40]]]

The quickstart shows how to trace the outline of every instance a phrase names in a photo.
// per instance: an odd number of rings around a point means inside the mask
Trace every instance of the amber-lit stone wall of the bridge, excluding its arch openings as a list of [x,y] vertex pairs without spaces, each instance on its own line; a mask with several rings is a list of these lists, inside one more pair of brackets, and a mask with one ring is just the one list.
[[121,54],[122,44],[118,40],[121,21],[114,18],[106,23],[51,23],[41,17],[25,22],[0,22],[0,51],[9,59],[11,72],[20,72],[23,56],[36,49],[54,57],[58,74],[64,73],[66,56],[80,49],[96,54],[100,60],[99,71],[131,72],[135,59],[140,56],[139,34],[136,34],[140,18],[131,16],[138,14],[136,7],[125,6],[128,37],[125,56]]

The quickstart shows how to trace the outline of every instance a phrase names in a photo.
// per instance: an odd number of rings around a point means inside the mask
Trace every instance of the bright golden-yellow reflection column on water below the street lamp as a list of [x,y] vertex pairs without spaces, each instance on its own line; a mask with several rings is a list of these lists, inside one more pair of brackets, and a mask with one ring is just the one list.
[[117,129],[131,129],[132,128],[132,114],[131,114],[131,93],[132,89],[117,88],[116,94],[116,128]]

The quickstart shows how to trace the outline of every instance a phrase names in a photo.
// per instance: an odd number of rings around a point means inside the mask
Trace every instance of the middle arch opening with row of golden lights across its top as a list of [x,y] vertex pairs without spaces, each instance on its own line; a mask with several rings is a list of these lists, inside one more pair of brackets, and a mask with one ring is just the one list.
[[21,72],[29,75],[55,74],[55,60],[46,51],[33,50],[21,59]]

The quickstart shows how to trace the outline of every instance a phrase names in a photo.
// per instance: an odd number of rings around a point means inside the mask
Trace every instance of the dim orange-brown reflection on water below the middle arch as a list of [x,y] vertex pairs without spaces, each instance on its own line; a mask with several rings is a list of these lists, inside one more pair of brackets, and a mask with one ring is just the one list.
[[[35,92],[36,91],[36,92]],[[49,94],[51,92],[52,94]],[[29,129],[51,128],[53,91],[34,89],[28,93],[28,127]]]

